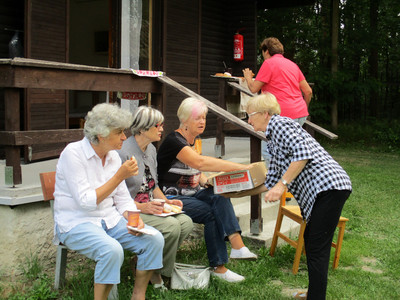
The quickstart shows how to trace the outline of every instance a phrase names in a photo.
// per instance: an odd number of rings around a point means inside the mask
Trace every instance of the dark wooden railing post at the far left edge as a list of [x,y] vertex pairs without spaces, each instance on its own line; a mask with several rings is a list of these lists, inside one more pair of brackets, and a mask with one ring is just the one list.
[[[20,130],[20,104],[19,89],[4,89],[4,108],[5,108],[5,124],[6,131]],[[13,184],[22,183],[21,173],[21,156],[19,146],[5,146],[6,166],[12,167]]]

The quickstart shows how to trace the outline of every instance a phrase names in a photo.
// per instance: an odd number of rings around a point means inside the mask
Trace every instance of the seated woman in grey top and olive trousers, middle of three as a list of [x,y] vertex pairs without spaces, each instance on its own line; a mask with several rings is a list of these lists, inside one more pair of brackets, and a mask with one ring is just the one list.
[[[182,207],[180,200],[168,200],[158,186],[157,152],[152,144],[161,140],[164,116],[160,111],[145,105],[133,113],[130,136],[118,151],[122,162],[134,156],[138,161],[139,174],[125,180],[132,199],[141,211],[143,221],[159,230],[164,236],[163,265],[154,272],[151,283],[155,288],[166,289],[164,280],[171,278],[176,260],[176,252],[180,244],[193,229],[193,222],[185,214],[160,217],[163,205],[159,199],[168,204]],[[156,200],[156,201],[154,201]]]

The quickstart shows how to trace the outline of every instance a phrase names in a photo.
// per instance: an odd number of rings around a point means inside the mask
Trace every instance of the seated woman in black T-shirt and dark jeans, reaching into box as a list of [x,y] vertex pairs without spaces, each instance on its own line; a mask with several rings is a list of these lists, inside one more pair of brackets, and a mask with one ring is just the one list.
[[248,169],[242,165],[198,153],[196,138],[206,127],[208,108],[195,98],[186,98],[178,109],[180,127],[170,133],[161,144],[158,154],[159,184],[168,198],[183,202],[183,210],[193,222],[204,224],[204,238],[212,273],[229,282],[239,282],[244,277],[228,270],[226,241],[232,246],[231,259],[256,259],[244,245],[241,229],[229,198],[216,195],[207,187],[202,172],[228,172]]

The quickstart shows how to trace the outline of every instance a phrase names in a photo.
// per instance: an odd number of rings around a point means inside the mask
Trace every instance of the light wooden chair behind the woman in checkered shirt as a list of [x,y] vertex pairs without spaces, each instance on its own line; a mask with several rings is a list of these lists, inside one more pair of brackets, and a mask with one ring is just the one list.
[[[306,229],[306,222],[303,220],[299,206],[286,205],[287,198],[294,198],[294,197],[291,193],[288,193],[288,192],[284,192],[281,197],[279,211],[278,211],[278,217],[276,219],[275,231],[274,231],[274,236],[272,238],[272,243],[271,243],[271,248],[270,248],[269,254],[271,256],[274,256],[276,245],[278,243],[278,237],[280,237],[281,239],[283,239],[284,241],[289,243],[291,246],[296,248],[296,254],[294,256],[292,272],[293,272],[293,274],[297,274],[297,272],[299,270],[301,254],[302,253],[306,254],[305,249],[304,249],[304,231]],[[282,226],[282,220],[283,220],[284,216],[286,216],[300,224],[300,231],[299,231],[299,236],[298,236],[297,240],[291,239],[290,237],[284,235],[280,231],[281,226]],[[336,269],[339,265],[339,258],[340,258],[340,251],[342,250],[344,230],[346,227],[346,222],[348,220],[349,219],[347,219],[345,217],[340,217],[338,225],[337,225],[337,227],[339,227],[339,234],[338,234],[337,242],[336,243],[332,242],[332,247],[336,248],[335,258],[333,260],[333,265],[332,265],[333,269]]]

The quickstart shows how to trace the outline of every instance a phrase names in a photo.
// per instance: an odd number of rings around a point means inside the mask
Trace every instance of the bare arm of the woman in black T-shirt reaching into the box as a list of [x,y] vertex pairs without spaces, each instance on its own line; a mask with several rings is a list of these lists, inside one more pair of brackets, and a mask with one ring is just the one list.
[[184,164],[202,172],[230,172],[249,169],[249,165],[243,165],[228,160],[211,156],[200,155],[191,147],[185,146],[176,156]]

